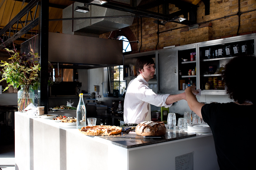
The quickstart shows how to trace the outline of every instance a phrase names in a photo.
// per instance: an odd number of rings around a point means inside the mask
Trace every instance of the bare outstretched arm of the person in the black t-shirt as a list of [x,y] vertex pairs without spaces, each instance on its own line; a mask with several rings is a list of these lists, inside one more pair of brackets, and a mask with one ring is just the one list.
[[204,104],[197,101],[195,86],[186,88],[185,93],[189,108],[202,118],[201,109]]

